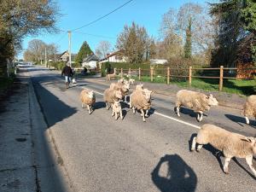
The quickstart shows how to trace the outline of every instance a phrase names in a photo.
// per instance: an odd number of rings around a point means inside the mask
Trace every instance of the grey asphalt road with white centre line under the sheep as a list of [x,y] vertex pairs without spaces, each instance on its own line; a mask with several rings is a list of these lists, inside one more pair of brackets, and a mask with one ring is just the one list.
[[[189,152],[190,137],[205,123],[255,135],[255,121],[246,125],[239,111],[211,108],[198,123],[189,109],[178,118],[173,98],[154,95],[146,122],[125,105],[125,118],[115,121],[102,102],[107,85],[79,79],[67,90],[60,74],[28,69],[73,191],[255,191],[256,179],[245,160],[231,160],[225,175],[220,166],[224,159],[211,146]],[[83,88],[96,91],[90,115],[79,101]]]

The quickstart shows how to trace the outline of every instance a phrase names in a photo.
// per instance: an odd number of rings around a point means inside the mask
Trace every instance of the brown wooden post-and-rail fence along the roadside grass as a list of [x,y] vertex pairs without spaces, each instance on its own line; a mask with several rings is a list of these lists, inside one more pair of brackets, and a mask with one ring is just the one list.
[[[179,70],[179,71],[186,71],[188,75],[175,75],[173,71]],[[218,76],[200,76],[200,75],[193,75],[193,71],[198,71],[198,70],[209,70],[209,71],[218,71],[219,75]],[[138,77],[138,80],[142,80],[142,76],[148,76],[150,77],[150,81],[154,81],[154,77],[157,75],[158,72],[161,71],[161,75],[166,77],[166,84],[170,84],[171,78],[185,78],[189,79],[189,86],[192,84],[192,79],[219,79],[218,83],[218,90],[223,89],[223,80],[224,79],[243,79],[243,78],[236,78],[236,77],[228,77],[224,76],[224,71],[237,71],[238,68],[224,68],[224,66],[220,66],[218,68],[171,68],[171,67],[166,67],[166,68],[160,68],[160,69],[154,69],[154,67],[150,67],[150,69],[123,69],[123,68],[114,68],[114,72],[119,73],[120,77],[123,78],[124,75],[127,75],[128,77],[134,76],[134,74]],[[247,68],[245,70],[249,71],[256,71],[256,68]]]

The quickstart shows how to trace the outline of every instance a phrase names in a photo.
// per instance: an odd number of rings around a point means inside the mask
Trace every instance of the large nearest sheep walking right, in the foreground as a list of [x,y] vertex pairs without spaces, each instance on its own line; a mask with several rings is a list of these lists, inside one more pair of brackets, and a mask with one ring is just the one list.
[[216,125],[205,124],[201,126],[197,137],[193,138],[191,151],[199,151],[204,144],[210,143],[214,148],[224,154],[224,173],[229,173],[229,163],[232,157],[245,158],[254,176],[253,154],[256,154],[256,137],[246,137],[237,133],[226,131]]

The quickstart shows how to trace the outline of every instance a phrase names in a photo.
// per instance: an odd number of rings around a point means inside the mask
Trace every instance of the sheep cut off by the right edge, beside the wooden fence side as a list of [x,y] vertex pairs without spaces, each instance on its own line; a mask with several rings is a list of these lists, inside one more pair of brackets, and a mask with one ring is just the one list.
[[250,123],[248,116],[255,117],[256,119],[256,95],[247,97],[247,102],[243,107],[243,115],[247,121],[247,125]]

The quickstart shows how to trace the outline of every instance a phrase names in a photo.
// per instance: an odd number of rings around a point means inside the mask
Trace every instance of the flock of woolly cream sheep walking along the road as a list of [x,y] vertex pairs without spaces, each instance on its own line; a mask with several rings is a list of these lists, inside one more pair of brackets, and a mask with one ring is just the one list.
[[[110,79],[111,77],[109,77]],[[104,102],[106,108],[112,108],[112,116],[118,119],[118,114],[123,119],[122,108],[120,102],[122,99],[126,103],[126,96],[130,90],[130,82],[125,79],[119,79],[117,83],[110,84],[110,87],[104,91]],[[130,95],[130,108],[133,113],[136,110],[141,112],[143,121],[148,117],[148,110],[151,107],[151,95],[153,91],[143,88],[143,84],[137,84],[136,89]],[[88,112],[92,113],[92,106],[96,102],[96,96],[93,90],[82,90],[80,94],[82,108],[87,105]],[[191,108],[197,113],[197,120],[201,121],[203,113],[208,111],[211,106],[217,106],[218,101],[210,94],[195,92],[191,90],[179,90],[177,92],[177,101],[175,112],[180,116],[179,108]],[[244,105],[243,113],[247,124],[249,124],[249,116],[256,118],[256,95],[248,96],[247,102]],[[224,154],[225,173],[228,173],[228,166],[232,157],[245,158],[247,165],[256,177],[256,171],[253,168],[253,154],[256,154],[256,137],[246,137],[241,134],[226,131],[216,125],[205,124],[201,126],[196,137],[193,138],[191,151],[195,149],[199,151],[204,144],[210,143],[214,148],[217,148]]]

